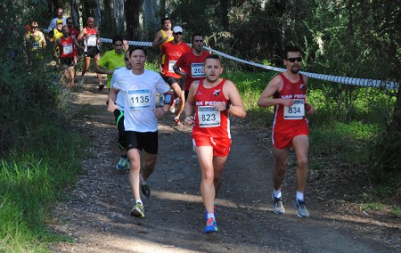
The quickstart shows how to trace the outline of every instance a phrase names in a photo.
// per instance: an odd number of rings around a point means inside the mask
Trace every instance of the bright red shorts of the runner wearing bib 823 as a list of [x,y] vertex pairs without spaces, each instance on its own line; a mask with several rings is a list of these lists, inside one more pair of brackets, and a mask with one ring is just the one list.
[[230,152],[231,139],[228,138],[211,138],[203,135],[193,135],[193,146],[211,146],[213,148],[213,156],[226,157]]

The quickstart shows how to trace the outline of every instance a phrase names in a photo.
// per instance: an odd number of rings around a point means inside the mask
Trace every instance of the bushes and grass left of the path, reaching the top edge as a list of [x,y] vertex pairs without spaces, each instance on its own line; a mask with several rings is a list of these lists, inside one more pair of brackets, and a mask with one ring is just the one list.
[[45,252],[60,240],[46,228],[49,210],[74,184],[85,142],[70,129],[52,52],[27,57],[25,20],[44,9],[9,0],[0,7],[0,251]]

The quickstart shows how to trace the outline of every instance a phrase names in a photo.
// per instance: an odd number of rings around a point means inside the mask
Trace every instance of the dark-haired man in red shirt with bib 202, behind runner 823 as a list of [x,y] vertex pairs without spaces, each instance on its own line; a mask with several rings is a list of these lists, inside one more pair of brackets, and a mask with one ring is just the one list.
[[188,97],[189,88],[192,82],[205,78],[203,66],[205,59],[209,54],[208,51],[203,50],[203,37],[201,34],[194,34],[192,36],[192,50],[183,53],[173,66],[174,72],[185,80],[185,100]]

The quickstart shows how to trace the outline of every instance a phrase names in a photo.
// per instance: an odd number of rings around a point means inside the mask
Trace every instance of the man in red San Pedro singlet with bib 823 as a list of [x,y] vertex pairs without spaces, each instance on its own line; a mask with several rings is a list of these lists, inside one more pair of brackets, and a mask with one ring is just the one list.
[[201,167],[201,195],[205,205],[204,233],[217,232],[214,202],[231,147],[230,115],[245,117],[240,94],[232,81],[220,78],[223,68],[218,55],[204,64],[205,79],[194,81],[185,102],[184,125],[193,126],[194,150]]

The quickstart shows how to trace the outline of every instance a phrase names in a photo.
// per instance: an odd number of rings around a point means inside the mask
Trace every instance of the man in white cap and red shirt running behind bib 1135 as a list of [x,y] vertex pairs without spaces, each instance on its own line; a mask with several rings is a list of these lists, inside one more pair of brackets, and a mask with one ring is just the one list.
[[[183,37],[183,29],[181,27],[174,27],[173,37],[173,41],[161,45],[159,68],[161,75],[168,85],[171,86],[179,99],[174,121],[176,125],[181,126],[180,115],[184,110],[185,102],[184,78],[181,78],[181,76],[174,72],[173,66],[176,64],[178,58],[180,58],[183,53],[191,51],[191,48],[181,40]],[[162,63],[163,55],[165,55],[164,63]],[[174,104],[172,106],[174,108]]]

